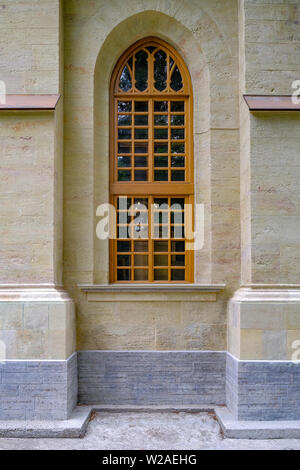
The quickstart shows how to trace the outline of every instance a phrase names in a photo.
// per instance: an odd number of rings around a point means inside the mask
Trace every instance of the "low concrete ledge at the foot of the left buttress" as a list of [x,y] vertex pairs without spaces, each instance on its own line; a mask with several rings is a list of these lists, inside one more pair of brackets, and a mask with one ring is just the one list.
[[92,408],[90,406],[77,406],[67,420],[0,420],[0,438],[83,437],[89,424],[91,412]]

